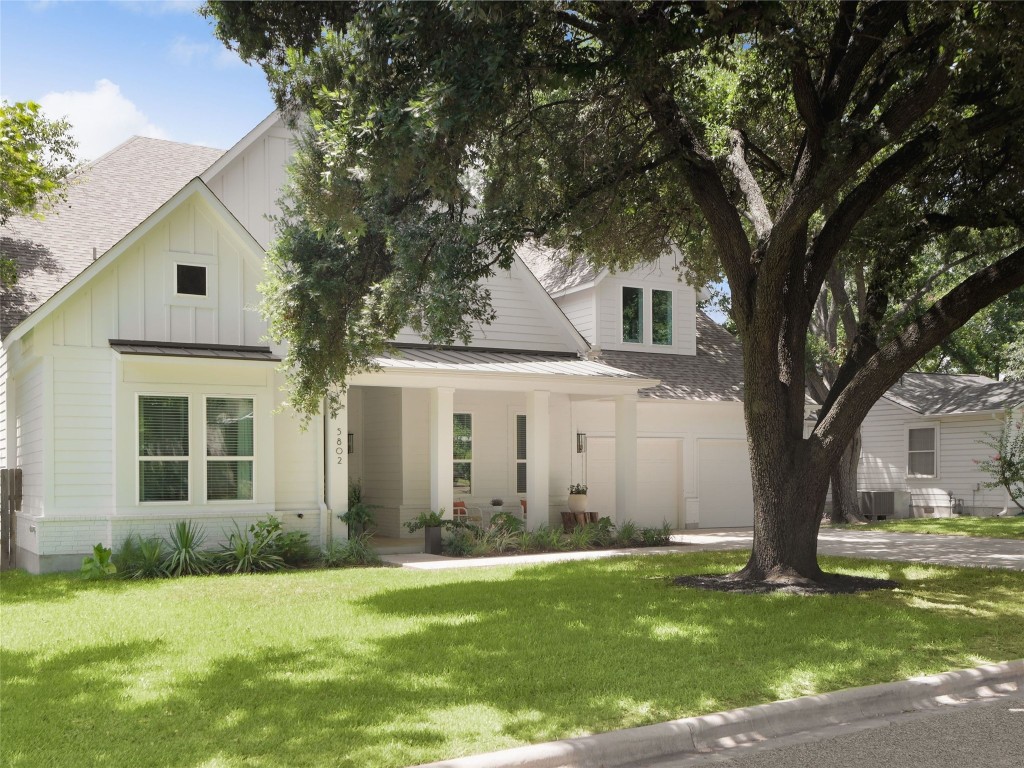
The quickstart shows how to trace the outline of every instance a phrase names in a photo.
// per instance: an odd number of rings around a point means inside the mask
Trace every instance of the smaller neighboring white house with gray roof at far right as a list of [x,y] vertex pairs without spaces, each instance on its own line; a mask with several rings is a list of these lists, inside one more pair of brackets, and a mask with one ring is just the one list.
[[895,492],[898,517],[947,516],[957,501],[967,514],[1016,513],[1002,488],[983,487],[991,476],[977,462],[1022,403],[1024,382],[904,374],[864,419],[858,488]]

